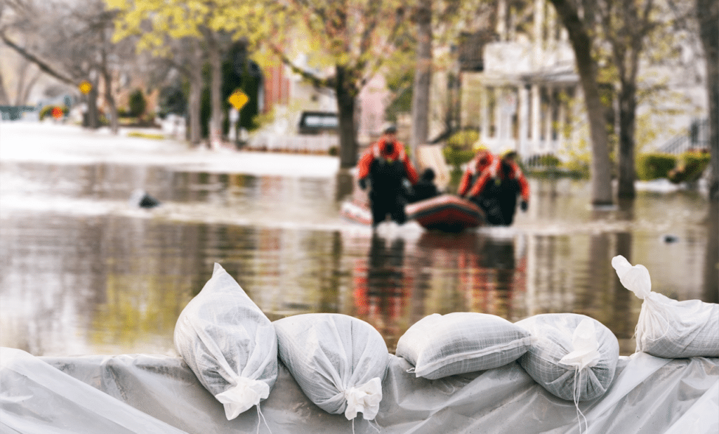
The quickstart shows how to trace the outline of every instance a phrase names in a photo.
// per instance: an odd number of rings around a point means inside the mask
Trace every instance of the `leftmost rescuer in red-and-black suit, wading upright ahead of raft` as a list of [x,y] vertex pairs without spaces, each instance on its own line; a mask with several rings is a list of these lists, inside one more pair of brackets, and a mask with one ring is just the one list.
[[370,189],[372,227],[385,221],[388,214],[398,224],[407,221],[404,183],[408,180],[415,185],[418,176],[404,144],[397,140],[395,126],[388,126],[382,137],[362,154],[357,164],[357,178],[362,190]]

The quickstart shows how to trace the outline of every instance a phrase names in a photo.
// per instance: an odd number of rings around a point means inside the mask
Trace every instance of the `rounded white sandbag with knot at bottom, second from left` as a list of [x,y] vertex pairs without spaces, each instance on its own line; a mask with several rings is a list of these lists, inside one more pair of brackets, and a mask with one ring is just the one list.
[[309,400],[347,420],[380,410],[389,353],[369,323],[339,313],[306,313],[274,323],[280,360]]

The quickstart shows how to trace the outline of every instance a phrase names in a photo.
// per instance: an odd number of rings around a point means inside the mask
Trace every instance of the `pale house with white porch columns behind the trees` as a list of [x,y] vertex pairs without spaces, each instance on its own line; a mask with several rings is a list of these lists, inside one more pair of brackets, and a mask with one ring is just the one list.
[[[431,137],[447,128],[477,129],[495,151],[516,149],[523,157],[561,154],[567,144],[588,142],[574,52],[554,6],[545,0],[526,1],[521,8],[508,3],[498,0],[493,17],[463,35],[453,70],[435,73]],[[655,126],[651,140],[638,138],[649,142],[647,149],[686,134],[706,112],[700,55],[689,43],[680,55],[685,57],[682,70],[640,70],[640,79],[666,80],[672,93],[661,107],[652,107],[667,113],[649,118]],[[638,115],[647,108],[640,101]]]

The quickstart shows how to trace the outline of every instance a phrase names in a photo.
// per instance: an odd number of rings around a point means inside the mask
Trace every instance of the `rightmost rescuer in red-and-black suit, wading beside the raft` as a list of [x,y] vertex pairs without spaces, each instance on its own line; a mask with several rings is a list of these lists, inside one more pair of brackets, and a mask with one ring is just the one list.
[[503,152],[500,158],[487,167],[467,195],[472,202],[485,211],[487,222],[509,226],[514,221],[517,195],[521,195],[520,207],[529,206],[529,184],[516,162],[517,153]]

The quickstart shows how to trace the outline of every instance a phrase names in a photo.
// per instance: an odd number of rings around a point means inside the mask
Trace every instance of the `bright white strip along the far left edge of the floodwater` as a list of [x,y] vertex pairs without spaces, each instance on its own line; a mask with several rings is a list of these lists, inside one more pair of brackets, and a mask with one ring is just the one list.
[[0,121],[0,161],[158,165],[192,172],[299,177],[333,177],[339,170],[339,158],[328,155],[237,151],[232,144],[212,151],[172,139],[127,137],[129,131],[145,132],[123,128],[114,135],[107,128],[91,131],[74,125]]

